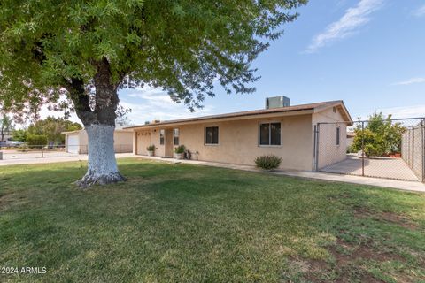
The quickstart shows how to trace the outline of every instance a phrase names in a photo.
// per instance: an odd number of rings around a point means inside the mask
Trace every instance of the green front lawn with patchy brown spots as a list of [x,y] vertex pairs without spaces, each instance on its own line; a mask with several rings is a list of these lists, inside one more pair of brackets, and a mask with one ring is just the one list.
[[121,159],[0,167],[2,282],[425,282],[425,195]]

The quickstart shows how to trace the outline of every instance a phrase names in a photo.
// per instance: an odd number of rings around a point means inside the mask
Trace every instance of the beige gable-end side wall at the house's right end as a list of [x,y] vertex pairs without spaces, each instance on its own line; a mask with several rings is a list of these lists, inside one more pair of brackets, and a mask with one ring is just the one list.
[[[318,168],[343,161],[347,152],[347,126],[344,123],[341,109],[337,108],[336,113],[333,108],[325,111],[313,113],[313,125],[321,124],[319,127],[319,161]],[[340,143],[336,145],[336,128],[340,128]]]

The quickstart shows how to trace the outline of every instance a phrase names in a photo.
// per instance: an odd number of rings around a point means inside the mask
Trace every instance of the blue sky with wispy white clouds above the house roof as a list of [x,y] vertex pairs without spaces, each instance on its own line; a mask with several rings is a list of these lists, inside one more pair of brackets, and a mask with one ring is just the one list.
[[298,20],[254,62],[261,79],[251,95],[205,100],[191,114],[160,89],[120,91],[134,124],[151,119],[261,109],[267,96],[291,104],[344,100],[353,118],[377,110],[425,116],[425,1],[326,0],[298,9]]

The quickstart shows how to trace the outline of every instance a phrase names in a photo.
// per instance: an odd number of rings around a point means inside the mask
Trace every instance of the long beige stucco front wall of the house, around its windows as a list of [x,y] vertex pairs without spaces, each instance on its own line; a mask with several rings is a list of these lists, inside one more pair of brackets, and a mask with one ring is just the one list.
[[[272,121],[282,123],[282,145],[259,146],[259,123]],[[218,145],[205,145],[205,126],[219,126]],[[198,152],[199,160],[253,165],[255,157],[274,154],[282,157],[282,169],[312,170],[313,130],[310,114],[175,127],[180,129],[180,144],[191,152]],[[146,147],[152,143],[157,148],[155,155],[164,157],[165,146],[159,145],[159,129],[137,131],[137,154],[146,155]]]

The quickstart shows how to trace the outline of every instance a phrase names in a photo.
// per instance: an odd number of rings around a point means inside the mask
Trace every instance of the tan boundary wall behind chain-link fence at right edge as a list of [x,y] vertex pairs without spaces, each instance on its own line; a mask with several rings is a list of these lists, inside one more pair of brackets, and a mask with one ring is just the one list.
[[425,182],[425,128],[416,126],[403,134],[401,140],[401,157],[413,170],[419,180]]

